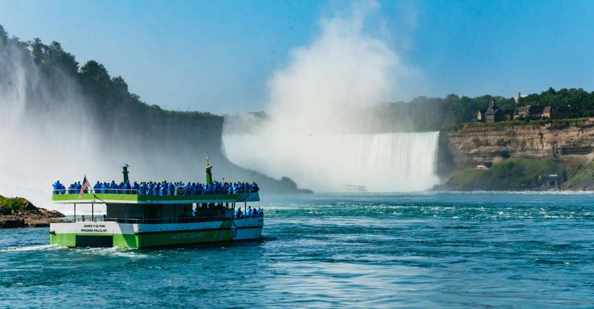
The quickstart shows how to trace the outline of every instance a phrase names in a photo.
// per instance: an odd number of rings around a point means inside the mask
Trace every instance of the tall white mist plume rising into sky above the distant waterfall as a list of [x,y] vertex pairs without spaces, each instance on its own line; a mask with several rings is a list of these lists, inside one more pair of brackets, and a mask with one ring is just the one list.
[[365,33],[371,10],[374,2],[366,2],[323,18],[320,36],[290,52],[289,64],[268,83],[273,130],[343,131],[346,106],[400,99],[421,79],[386,42]]

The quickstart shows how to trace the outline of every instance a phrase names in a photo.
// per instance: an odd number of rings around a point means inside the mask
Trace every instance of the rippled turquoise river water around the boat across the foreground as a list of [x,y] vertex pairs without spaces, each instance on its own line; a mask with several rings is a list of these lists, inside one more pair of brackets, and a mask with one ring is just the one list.
[[262,241],[61,248],[0,230],[0,307],[594,307],[594,195],[263,196]]

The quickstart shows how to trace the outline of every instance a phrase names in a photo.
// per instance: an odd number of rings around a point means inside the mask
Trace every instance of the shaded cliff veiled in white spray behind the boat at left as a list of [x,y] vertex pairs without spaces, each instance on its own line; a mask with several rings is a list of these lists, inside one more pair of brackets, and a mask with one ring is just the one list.
[[124,102],[134,97],[127,86],[113,99],[113,88],[93,91],[82,70],[38,63],[34,52],[0,35],[0,194],[68,214],[71,207],[49,205],[57,179],[120,182],[118,166],[129,163],[131,181],[204,182],[206,152],[217,179],[252,180],[222,156],[222,117]]

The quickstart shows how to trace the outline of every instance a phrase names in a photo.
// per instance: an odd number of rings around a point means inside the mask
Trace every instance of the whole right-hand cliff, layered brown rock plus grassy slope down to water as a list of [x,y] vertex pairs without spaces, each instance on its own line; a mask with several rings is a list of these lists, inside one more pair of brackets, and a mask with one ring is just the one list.
[[467,124],[440,136],[435,190],[592,191],[593,159],[592,119]]

